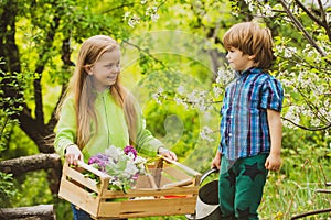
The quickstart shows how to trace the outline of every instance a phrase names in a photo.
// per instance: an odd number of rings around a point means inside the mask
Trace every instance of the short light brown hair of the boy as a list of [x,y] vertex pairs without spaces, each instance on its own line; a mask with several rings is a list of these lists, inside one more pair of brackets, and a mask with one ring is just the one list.
[[231,47],[244,54],[255,55],[255,67],[268,69],[274,59],[273,37],[269,29],[263,29],[255,22],[243,22],[233,25],[223,36],[226,50]]

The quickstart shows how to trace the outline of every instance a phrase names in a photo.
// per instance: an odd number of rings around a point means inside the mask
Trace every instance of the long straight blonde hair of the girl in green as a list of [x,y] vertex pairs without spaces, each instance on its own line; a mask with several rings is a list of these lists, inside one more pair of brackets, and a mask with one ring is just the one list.
[[[75,100],[77,140],[82,150],[90,139],[92,124],[97,129],[97,118],[94,108],[96,92],[93,87],[92,77],[87,73],[88,66],[93,65],[107,51],[120,50],[118,43],[109,36],[96,35],[87,38],[78,53],[78,59],[73,77],[70,80],[65,97],[73,95]],[[129,129],[130,143],[136,141],[137,110],[134,97],[120,84],[119,78],[110,86],[109,92],[117,105],[124,109],[126,122]],[[65,99],[65,98],[64,98]],[[63,103],[63,101],[62,101]],[[61,106],[58,111],[61,111]],[[97,131],[96,131],[97,132]]]

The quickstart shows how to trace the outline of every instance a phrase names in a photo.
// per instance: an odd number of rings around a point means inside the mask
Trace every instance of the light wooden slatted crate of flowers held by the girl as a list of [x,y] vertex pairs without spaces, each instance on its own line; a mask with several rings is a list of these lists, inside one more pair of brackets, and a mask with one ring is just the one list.
[[[183,165],[180,166],[185,168]],[[190,174],[193,176],[191,177],[191,179],[193,180],[192,185],[184,187],[172,187],[167,189],[137,188],[128,190],[127,194],[124,194],[122,191],[108,190],[108,175],[99,174],[98,170],[95,172],[94,168],[89,167],[86,164],[82,164],[82,168],[86,168],[87,170],[97,174],[97,176],[99,176],[100,178],[100,184],[96,185],[96,182],[94,179],[84,177],[84,175],[79,173],[82,170],[75,170],[66,165],[63,169],[64,172],[58,196],[84,209],[97,219],[99,219],[100,217],[135,218],[147,216],[172,216],[194,212],[196,196],[199,191],[199,185],[196,185],[196,179],[200,178],[201,175],[196,172],[192,172],[189,168],[186,168],[186,170],[189,170]],[[162,169],[156,169],[154,174],[160,174],[161,176],[161,170]],[[171,179],[167,182],[171,182]],[[86,187],[93,189],[98,196],[92,196],[90,193],[86,190]],[[171,197],[164,199],[163,196],[184,197]],[[109,198],[134,197],[145,197],[150,199],[126,200],[119,202],[108,201]]]

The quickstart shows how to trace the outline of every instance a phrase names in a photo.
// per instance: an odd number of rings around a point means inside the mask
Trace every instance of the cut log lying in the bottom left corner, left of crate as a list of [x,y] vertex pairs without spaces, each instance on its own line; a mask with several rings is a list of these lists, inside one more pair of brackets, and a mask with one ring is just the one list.
[[54,220],[56,215],[53,205],[0,209],[0,219]]

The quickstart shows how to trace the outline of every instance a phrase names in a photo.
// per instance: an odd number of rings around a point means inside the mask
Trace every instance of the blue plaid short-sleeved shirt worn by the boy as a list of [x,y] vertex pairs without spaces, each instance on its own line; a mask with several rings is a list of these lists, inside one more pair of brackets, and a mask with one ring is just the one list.
[[226,87],[221,110],[218,151],[228,160],[270,151],[267,109],[281,111],[281,84],[259,68],[236,73]]

